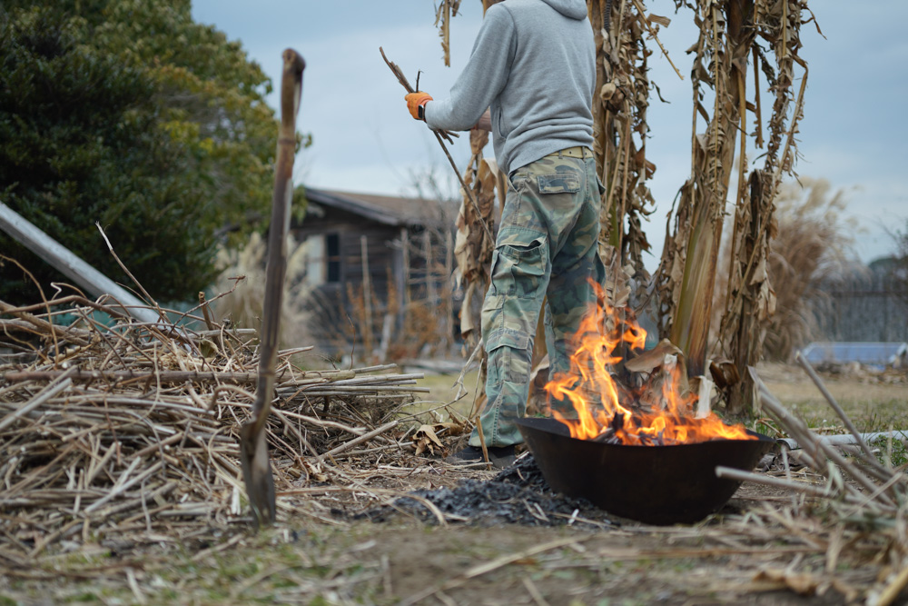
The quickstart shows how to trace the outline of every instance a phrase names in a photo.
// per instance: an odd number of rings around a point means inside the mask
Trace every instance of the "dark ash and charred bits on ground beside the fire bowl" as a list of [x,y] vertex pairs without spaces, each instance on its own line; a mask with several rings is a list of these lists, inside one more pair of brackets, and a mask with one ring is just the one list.
[[373,507],[354,518],[388,522],[405,515],[438,523],[436,513],[426,506],[428,501],[447,522],[473,526],[569,524],[601,528],[616,525],[591,502],[552,491],[531,454],[521,457],[488,482],[465,480],[453,489],[419,490],[410,494],[413,497],[401,497],[391,505]]

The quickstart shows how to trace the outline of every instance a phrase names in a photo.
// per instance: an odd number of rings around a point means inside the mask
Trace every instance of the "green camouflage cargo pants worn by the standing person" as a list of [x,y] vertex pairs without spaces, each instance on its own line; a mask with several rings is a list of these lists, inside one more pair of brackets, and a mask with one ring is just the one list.
[[[579,150],[581,148],[571,148]],[[479,417],[487,446],[523,442],[514,420],[527,408],[533,339],[543,300],[551,373],[568,372],[569,343],[602,283],[597,253],[596,161],[550,154],[511,174],[482,305],[488,401]],[[479,446],[479,432],[469,443]]]

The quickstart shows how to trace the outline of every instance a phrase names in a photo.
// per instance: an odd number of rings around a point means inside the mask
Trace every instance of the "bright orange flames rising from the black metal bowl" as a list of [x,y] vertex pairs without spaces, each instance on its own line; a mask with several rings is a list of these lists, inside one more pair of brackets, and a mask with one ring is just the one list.
[[687,392],[684,365],[674,355],[654,364],[638,387],[617,382],[612,373],[622,362],[619,350],[643,352],[646,331],[632,320],[622,321],[607,304],[592,312],[577,331],[571,373],[555,376],[545,387],[549,397],[567,399],[577,412],[577,419],[569,419],[552,411],[568,425],[571,437],[643,446],[756,439],[743,425],[726,425],[713,412],[695,418],[697,396]]

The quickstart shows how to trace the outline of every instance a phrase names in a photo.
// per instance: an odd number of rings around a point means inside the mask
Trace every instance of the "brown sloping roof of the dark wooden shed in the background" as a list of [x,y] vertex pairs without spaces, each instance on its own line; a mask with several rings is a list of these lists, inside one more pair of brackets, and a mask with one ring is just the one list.
[[306,188],[310,204],[336,208],[348,213],[395,226],[414,226],[438,223],[441,219],[437,200],[401,198],[389,195],[357,194],[334,190]]

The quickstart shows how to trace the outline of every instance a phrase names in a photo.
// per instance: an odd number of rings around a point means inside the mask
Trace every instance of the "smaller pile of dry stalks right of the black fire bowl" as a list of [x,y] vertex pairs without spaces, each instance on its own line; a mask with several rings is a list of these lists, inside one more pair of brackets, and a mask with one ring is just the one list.
[[834,444],[811,430],[775,398],[754,368],[749,369],[763,411],[795,440],[798,449],[789,452],[781,446],[775,473],[724,467],[716,468],[716,473],[769,485],[792,496],[781,506],[763,503],[746,512],[728,530],[767,545],[769,541],[800,543],[823,556],[822,570],[798,570],[801,561],[795,560],[785,570],[763,569],[754,581],[775,583],[804,596],[834,589],[848,603],[895,603],[908,587],[908,465],[893,465],[892,439],[887,452],[874,451],[810,364],[800,354],[796,359],[854,443]]

